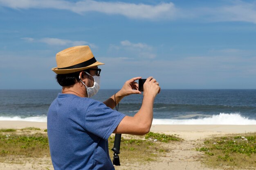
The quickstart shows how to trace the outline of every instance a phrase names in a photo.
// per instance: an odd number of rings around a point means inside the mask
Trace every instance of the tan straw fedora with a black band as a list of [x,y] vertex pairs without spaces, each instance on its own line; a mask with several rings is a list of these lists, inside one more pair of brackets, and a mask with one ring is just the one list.
[[103,65],[96,61],[89,46],[70,47],[56,54],[56,74],[67,74]]

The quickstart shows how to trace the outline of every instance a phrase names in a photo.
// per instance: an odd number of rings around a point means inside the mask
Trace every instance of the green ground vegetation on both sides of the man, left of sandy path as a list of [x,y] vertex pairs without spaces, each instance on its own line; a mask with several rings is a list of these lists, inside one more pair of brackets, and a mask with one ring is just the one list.
[[[155,161],[169,151],[166,143],[182,141],[177,135],[150,132],[145,136],[123,135],[120,159],[122,162]],[[109,138],[109,153],[112,158],[114,135]],[[16,158],[19,159],[16,159]],[[22,163],[22,158],[49,157],[47,129],[34,127],[24,129],[0,129],[0,162]],[[11,160],[11,161],[10,161]],[[20,161],[20,162],[19,162]]]

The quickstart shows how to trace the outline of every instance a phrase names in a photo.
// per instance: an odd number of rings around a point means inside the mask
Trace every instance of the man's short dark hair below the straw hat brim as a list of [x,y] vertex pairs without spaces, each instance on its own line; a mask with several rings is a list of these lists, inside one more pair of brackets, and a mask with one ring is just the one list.
[[[88,72],[88,70],[83,70],[85,72]],[[68,73],[68,74],[57,74],[56,75],[56,80],[61,86],[70,86],[74,85],[75,83],[79,82],[79,72],[74,72],[74,73]]]

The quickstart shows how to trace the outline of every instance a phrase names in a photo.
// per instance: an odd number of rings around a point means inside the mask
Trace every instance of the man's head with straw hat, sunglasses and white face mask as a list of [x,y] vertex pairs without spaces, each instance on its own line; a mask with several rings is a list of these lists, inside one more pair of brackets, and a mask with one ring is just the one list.
[[56,54],[57,67],[52,70],[63,91],[71,90],[80,96],[93,96],[99,90],[98,65],[89,46],[75,46]]

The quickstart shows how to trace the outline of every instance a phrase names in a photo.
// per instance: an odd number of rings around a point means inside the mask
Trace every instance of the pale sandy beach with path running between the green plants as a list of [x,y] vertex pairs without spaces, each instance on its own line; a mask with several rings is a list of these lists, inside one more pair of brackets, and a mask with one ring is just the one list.
[[[46,122],[25,122],[25,121],[0,121],[0,129],[22,129],[26,127],[38,127],[47,129]],[[209,169],[201,163],[203,153],[195,150],[203,139],[211,136],[226,134],[256,132],[256,125],[152,125],[151,130],[157,133],[176,134],[184,139],[183,142],[171,142],[166,147],[171,151],[158,161],[139,165],[137,163],[121,162],[117,170],[171,170],[171,169]],[[120,158],[124,156],[120,154]],[[44,164],[46,163],[46,164]],[[0,169],[53,169],[50,160],[40,159],[38,162],[21,164],[0,163]]]

